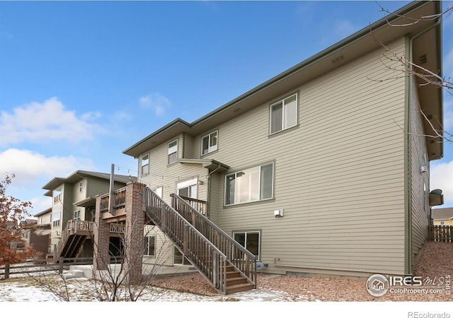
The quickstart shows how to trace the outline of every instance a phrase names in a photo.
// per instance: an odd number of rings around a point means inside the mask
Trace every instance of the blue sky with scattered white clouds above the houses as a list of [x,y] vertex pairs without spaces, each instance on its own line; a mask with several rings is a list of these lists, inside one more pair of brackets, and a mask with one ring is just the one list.
[[[379,1],[394,11],[408,1]],[[452,6],[445,1],[444,6]],[[124,151],[202,117],[384,13],[374,1],[0,1],[0,174],[49,208],[42,186],[75,170],[137,176]],[[443,22],[453,74],[453,16]],[[453,97],[445,95],[453,131]],[[453,206],[453,145],[431,189]]]

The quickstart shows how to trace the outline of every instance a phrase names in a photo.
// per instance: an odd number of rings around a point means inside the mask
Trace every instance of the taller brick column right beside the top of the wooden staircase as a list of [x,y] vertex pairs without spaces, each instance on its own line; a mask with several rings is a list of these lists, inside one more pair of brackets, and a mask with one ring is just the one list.
[[126,185],[126,227],[124,269],[127,283],[142,279],[143,259],[143,190],[145,184],[129,182]]

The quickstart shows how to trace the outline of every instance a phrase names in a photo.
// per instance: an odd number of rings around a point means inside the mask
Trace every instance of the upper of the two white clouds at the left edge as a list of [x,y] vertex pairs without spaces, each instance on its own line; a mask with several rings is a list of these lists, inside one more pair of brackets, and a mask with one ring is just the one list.
[[65,110],[57,98],[16,107],[12,113],[2,111],[0,146],[23,141],[90,140],[97,127],[89,120],[99,116],[93,112],[77,117],[74,111]]

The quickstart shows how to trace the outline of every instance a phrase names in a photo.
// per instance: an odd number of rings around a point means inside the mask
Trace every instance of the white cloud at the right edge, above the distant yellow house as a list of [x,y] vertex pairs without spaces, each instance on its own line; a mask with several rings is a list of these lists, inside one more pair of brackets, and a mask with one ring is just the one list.
[[432,163],[430,167],[430,189],[442,189],[444,201],[453,201],[453,161]]

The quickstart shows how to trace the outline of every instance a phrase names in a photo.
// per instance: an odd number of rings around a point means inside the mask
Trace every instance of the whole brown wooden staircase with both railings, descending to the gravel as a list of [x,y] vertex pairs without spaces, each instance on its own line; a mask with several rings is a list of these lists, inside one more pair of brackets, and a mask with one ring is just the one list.
[[255,256],[183,198],[173,194],[168,206],[144,188],[144,211],[219,293],[256,288]]

